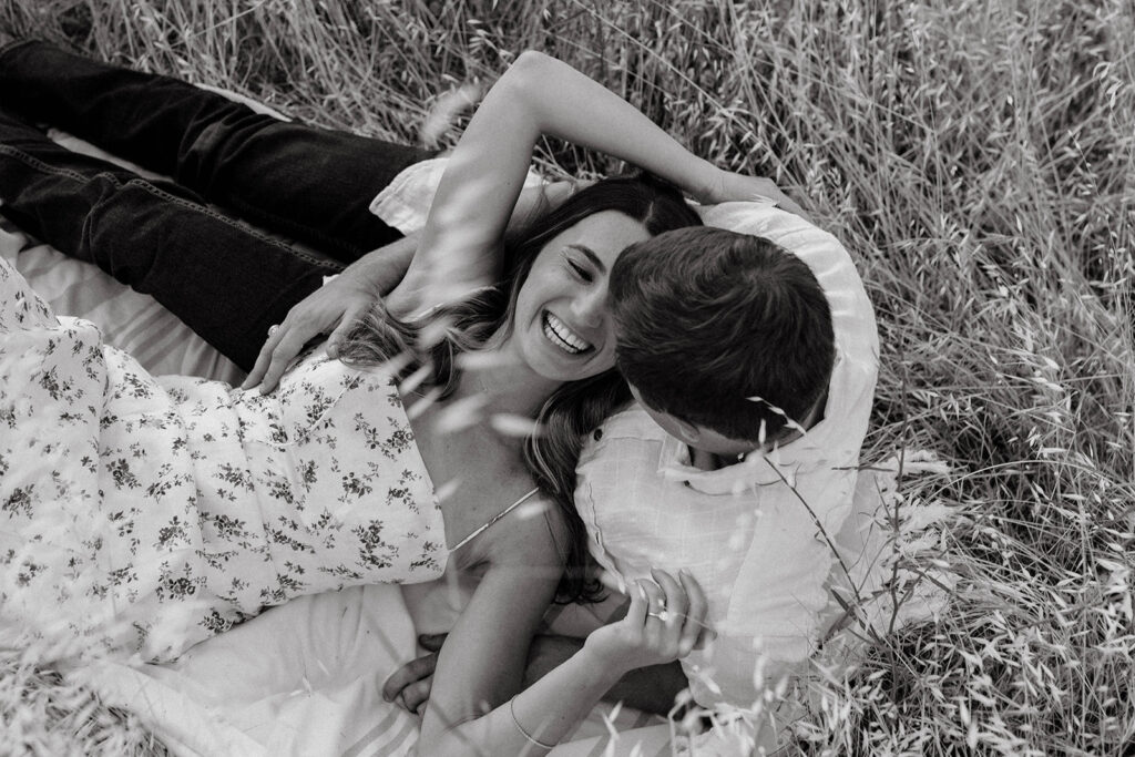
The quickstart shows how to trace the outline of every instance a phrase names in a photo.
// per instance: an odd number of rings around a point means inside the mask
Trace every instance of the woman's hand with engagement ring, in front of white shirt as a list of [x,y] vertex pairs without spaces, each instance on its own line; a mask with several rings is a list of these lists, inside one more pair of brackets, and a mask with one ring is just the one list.
[[653,570],[654,581],[639,580],[631,590],[627,616],[594,631],[583,649],[609,668],[631,671],[680,659],[712,631],[705,624],[705,592],[693,577],[681,571],[675,581]]

